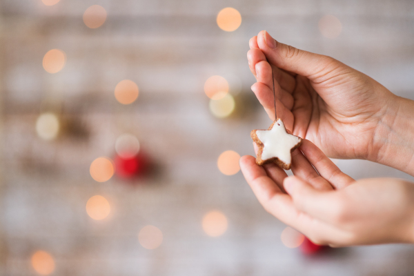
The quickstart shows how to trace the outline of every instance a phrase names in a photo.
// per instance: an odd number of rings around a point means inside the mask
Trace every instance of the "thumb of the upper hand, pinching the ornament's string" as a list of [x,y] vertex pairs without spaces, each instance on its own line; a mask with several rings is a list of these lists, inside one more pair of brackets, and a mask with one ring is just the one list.
[[313,82],[320,83],[329,79],[329,72],[347,66],[328,56],[317,55],[313,52],[299,50],[280,43],[262,30],[257,35],[257,44],[273,65],[284,70],[307,77]]

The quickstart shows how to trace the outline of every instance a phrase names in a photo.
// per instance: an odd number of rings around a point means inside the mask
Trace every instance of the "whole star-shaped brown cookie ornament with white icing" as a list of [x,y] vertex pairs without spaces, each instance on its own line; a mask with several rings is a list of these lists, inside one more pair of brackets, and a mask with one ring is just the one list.
[[302,144],[302,139],[286,132],[281,119],[277,119],[268,130],[252,130],[250,136],[257,144],[256,164],[263,165],[274,162],[280,168],[289,170],[291,153]]

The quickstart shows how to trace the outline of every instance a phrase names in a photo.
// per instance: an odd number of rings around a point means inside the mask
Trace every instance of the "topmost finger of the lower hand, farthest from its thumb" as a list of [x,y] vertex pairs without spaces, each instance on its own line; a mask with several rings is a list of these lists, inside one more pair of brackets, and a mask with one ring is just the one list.
[[[332,186],[337,189],[351,185],[355,180],[346,175],[333,163],[331,159],[326,157],[324,152],[315,146],[311,141],[303,139],[300,150],[306,156],[309,162],[315,167],[319,175],[326,179]],[[302,179],[306,179],[302,177]]]

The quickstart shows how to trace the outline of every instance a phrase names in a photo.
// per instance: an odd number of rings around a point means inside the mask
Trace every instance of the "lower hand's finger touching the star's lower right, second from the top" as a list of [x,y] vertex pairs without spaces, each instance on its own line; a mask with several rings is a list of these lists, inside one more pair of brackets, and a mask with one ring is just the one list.
[[293,175],[305,179],[317,190],[333,190],[331,184],[317,173],[308,159],[302,154],[301,148],[297,148],[292,152],[291,170]]

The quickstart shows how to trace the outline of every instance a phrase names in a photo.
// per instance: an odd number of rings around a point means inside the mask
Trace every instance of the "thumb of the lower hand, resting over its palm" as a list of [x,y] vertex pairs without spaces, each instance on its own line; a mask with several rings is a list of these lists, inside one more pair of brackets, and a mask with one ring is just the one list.
[[316,190],[295,176],[286,177],[283,184],[297,210],[324,221],[330,221],[335,215],[333,210],[336,210],[339,203],[335,198],[335,191]]

